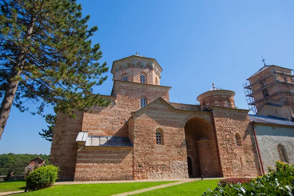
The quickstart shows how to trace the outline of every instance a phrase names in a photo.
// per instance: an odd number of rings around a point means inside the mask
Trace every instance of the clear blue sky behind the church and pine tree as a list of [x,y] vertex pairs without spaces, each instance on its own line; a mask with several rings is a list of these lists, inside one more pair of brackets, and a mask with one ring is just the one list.
[[[92,37],[103,52],[100,62],[136,54],[155,58],[163,68],[161,85],[171,86],[170,100],[197,103],[216,87],[236,92],[235,103],[247,109],[246,79],[263,63],[294,69],[293,0],[83,0]],[[94,87],[110,95],[113,81]],[[29,105],[33,111],[35,105]],[[45,114],[52,113],[46,108]],[[45,119],[13,108],[0,140],[1,153],[49,154],[50,142],[38,132]]]

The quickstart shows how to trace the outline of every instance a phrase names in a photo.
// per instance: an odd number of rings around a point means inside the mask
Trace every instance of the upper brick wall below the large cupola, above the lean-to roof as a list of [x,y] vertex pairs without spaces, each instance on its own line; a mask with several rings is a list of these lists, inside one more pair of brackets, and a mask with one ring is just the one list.
[[90,108],[91,112],[84,113],[82,130],[89,135],[128,137],[125,121],[131,112],[141,108],[142,97],[147,103],[159,97],[169,101],[168,87],[117,81],[114,88],[117,97],[108,96],[112,99],[111,105],[95,106]]

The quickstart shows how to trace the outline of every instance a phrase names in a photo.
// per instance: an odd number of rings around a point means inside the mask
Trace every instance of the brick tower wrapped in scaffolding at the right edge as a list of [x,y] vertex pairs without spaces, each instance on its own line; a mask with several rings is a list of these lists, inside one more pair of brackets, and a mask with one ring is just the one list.
[[[258,79],[252,79],[257,74],[259,74]],[[273,101],[294,106],[293,70],[289,72],[289,69],[266,65],[247,80],[249,81],[243,84],[243,88],[248,108],[254,114],[263,105]]]

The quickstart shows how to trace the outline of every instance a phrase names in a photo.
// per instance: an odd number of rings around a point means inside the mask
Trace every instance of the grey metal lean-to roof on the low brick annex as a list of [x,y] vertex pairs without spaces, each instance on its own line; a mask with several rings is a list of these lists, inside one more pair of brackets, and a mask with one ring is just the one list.
[[128,137],[88,135],[79,132],[76,142],[85,142],[86,147],[133,147]]

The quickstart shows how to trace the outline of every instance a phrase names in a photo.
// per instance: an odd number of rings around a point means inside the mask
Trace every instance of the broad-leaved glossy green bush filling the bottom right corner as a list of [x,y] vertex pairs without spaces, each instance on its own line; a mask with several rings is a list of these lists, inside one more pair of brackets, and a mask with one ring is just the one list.
[[275,168],[248,183],[219,184],[214,191],[207,189],[202,196],[294,196],[294,165],[276,162]]

